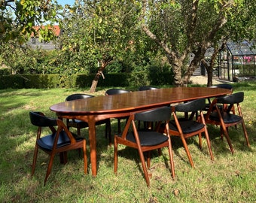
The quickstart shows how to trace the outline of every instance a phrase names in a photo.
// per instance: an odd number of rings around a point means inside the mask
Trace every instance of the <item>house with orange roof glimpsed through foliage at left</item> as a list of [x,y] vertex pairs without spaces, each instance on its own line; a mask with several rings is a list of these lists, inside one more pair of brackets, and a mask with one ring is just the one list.
[[[35,30],[38,30],[40,26],[35,26]],[[61,35],[61,30],[59,29],[59,26],[53,26],[53,32],[56,37],[59,37]],[[42,50],[54,50],[55,45],[53,44],[53,41],[39,41],[38,37],[35,37],[35,35],[32,33],[32,35],[29,38],[29,41],[27,42],[27,45],[31,47],[32,49],[41,48]]]

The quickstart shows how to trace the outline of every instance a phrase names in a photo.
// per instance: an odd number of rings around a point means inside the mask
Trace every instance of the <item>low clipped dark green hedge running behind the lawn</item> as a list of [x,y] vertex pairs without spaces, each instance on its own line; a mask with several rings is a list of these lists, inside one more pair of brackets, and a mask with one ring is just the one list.
[[[14,74],[0,76],[0,89],[50,89],[50,88],[84,88],[90,87],[95,74]],[[105,74],[105,79],[99,78],[97,86],[142,86],[170,85],[173,75],[170,72],[133,72]]]

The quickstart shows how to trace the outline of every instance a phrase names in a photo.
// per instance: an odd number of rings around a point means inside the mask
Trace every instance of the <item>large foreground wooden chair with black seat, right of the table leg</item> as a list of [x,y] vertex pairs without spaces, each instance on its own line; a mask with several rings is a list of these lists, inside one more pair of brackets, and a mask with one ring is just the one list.
[[[142,162],[142,169],[144,172],[145,180],[148,186],[150,186],[150,180],[148,177],[148,171],[145,165],[144,152],[148,152],[147,167],[150,168],[150,151],[157,150],[162,147],[168,147],[170,168],[172,171],[172,177],[175,177],[174,163],[172,156],[172,144],[169,137],[169,118],[171,110],[169,107],[156,108],[150,111],[144,111],[140,113],[131,114],[123,132],[114,135],[114,173],[117,174],[117,147],[118,144],[123,144],[127,147],[132,147],[138,150],[139,158]],[[142,122],[157,122],[157,126],[154,129],[137,129],[136,121]],[[165,123],[166,134],[158,132],[161,123]],[[130,129],[132,127],[132,129]]]

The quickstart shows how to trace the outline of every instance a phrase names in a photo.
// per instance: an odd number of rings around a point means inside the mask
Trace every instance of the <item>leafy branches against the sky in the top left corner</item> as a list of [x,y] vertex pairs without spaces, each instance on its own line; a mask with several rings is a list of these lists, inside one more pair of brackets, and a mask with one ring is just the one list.
[[[58,9],[56,0],[1,0],[0,37],[2,42],[18,39],[20,44],[34,33],[44,41],[53,38],[51,26],[56,22]],[[44,24],[44,26],[42,26]],[[35,30],[35,26],[41,26]]]

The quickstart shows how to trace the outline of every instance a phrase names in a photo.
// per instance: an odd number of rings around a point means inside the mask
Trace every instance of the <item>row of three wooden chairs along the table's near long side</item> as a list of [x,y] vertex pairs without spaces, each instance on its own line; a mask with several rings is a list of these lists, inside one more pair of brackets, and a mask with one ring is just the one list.
[[[245,129],[245,123],[242,117],[242,110],[240,103],[244,99],[244,92],[236,92],[231,95],[215,98],[210,106],[209,111],[204,114],[206,107],[206,100],[204,98],[197,99],[184,104],[175,105],[172,107],[157,108],[151,111],[146,111],[131,116],[126,123],[126,126],[122,133],[114,136],[114,173],[117,173],[117,146],[123,144],[128,147],[138,149],[139,158],[142,162],[142,169],[144,171],[145,180],[147,185],[150,185],[148,177],[148,171],[145,165],[144,152],[148,152],[147,166],[150,167],[150,152],[154,149],[160,149],[162,147],[169,148],[169,160],[170,168],[172,171],[172,177],[175,177],[175,168],[172,155],[171,136],[178,136],[184,145],[184,150],[187,153],[190,165],[194,168],[194,162],[190,155],[190,151],[187,147],[187,138],[194,135],[199,137],[199,147],[202,148],[202,134],[206,137],[206,142],[209,148],[209,155],[214,160],[212,154],[212,147],[207,130],[207,124],[213,124],[221,127],[221,137],[225,136],[230,146],[230,151],[233,153],[233,147],[228,134],[228,128],[230,126],[236,126],[242,124],[242,129],[245,136],[245,141],[249,147],[248,135]],[[236,106],[238,115],[233,114],[234,107]],[[199,114],[197,114],[199,112]],[[182,114],[180,114],[182,113]],[[172,114],[173,120],[170,119]],[[182,116],[181,116],[182,115]],[[185,116],[184,116],[185,115]],[[194,118],[197,115],[196,118]],[[157,123],[155,129],[139,129],[136,126],[136,121]],[[160,124],[161,122],[164,122]],[[133,131],[129,132],[130,126],[133,127]]]

